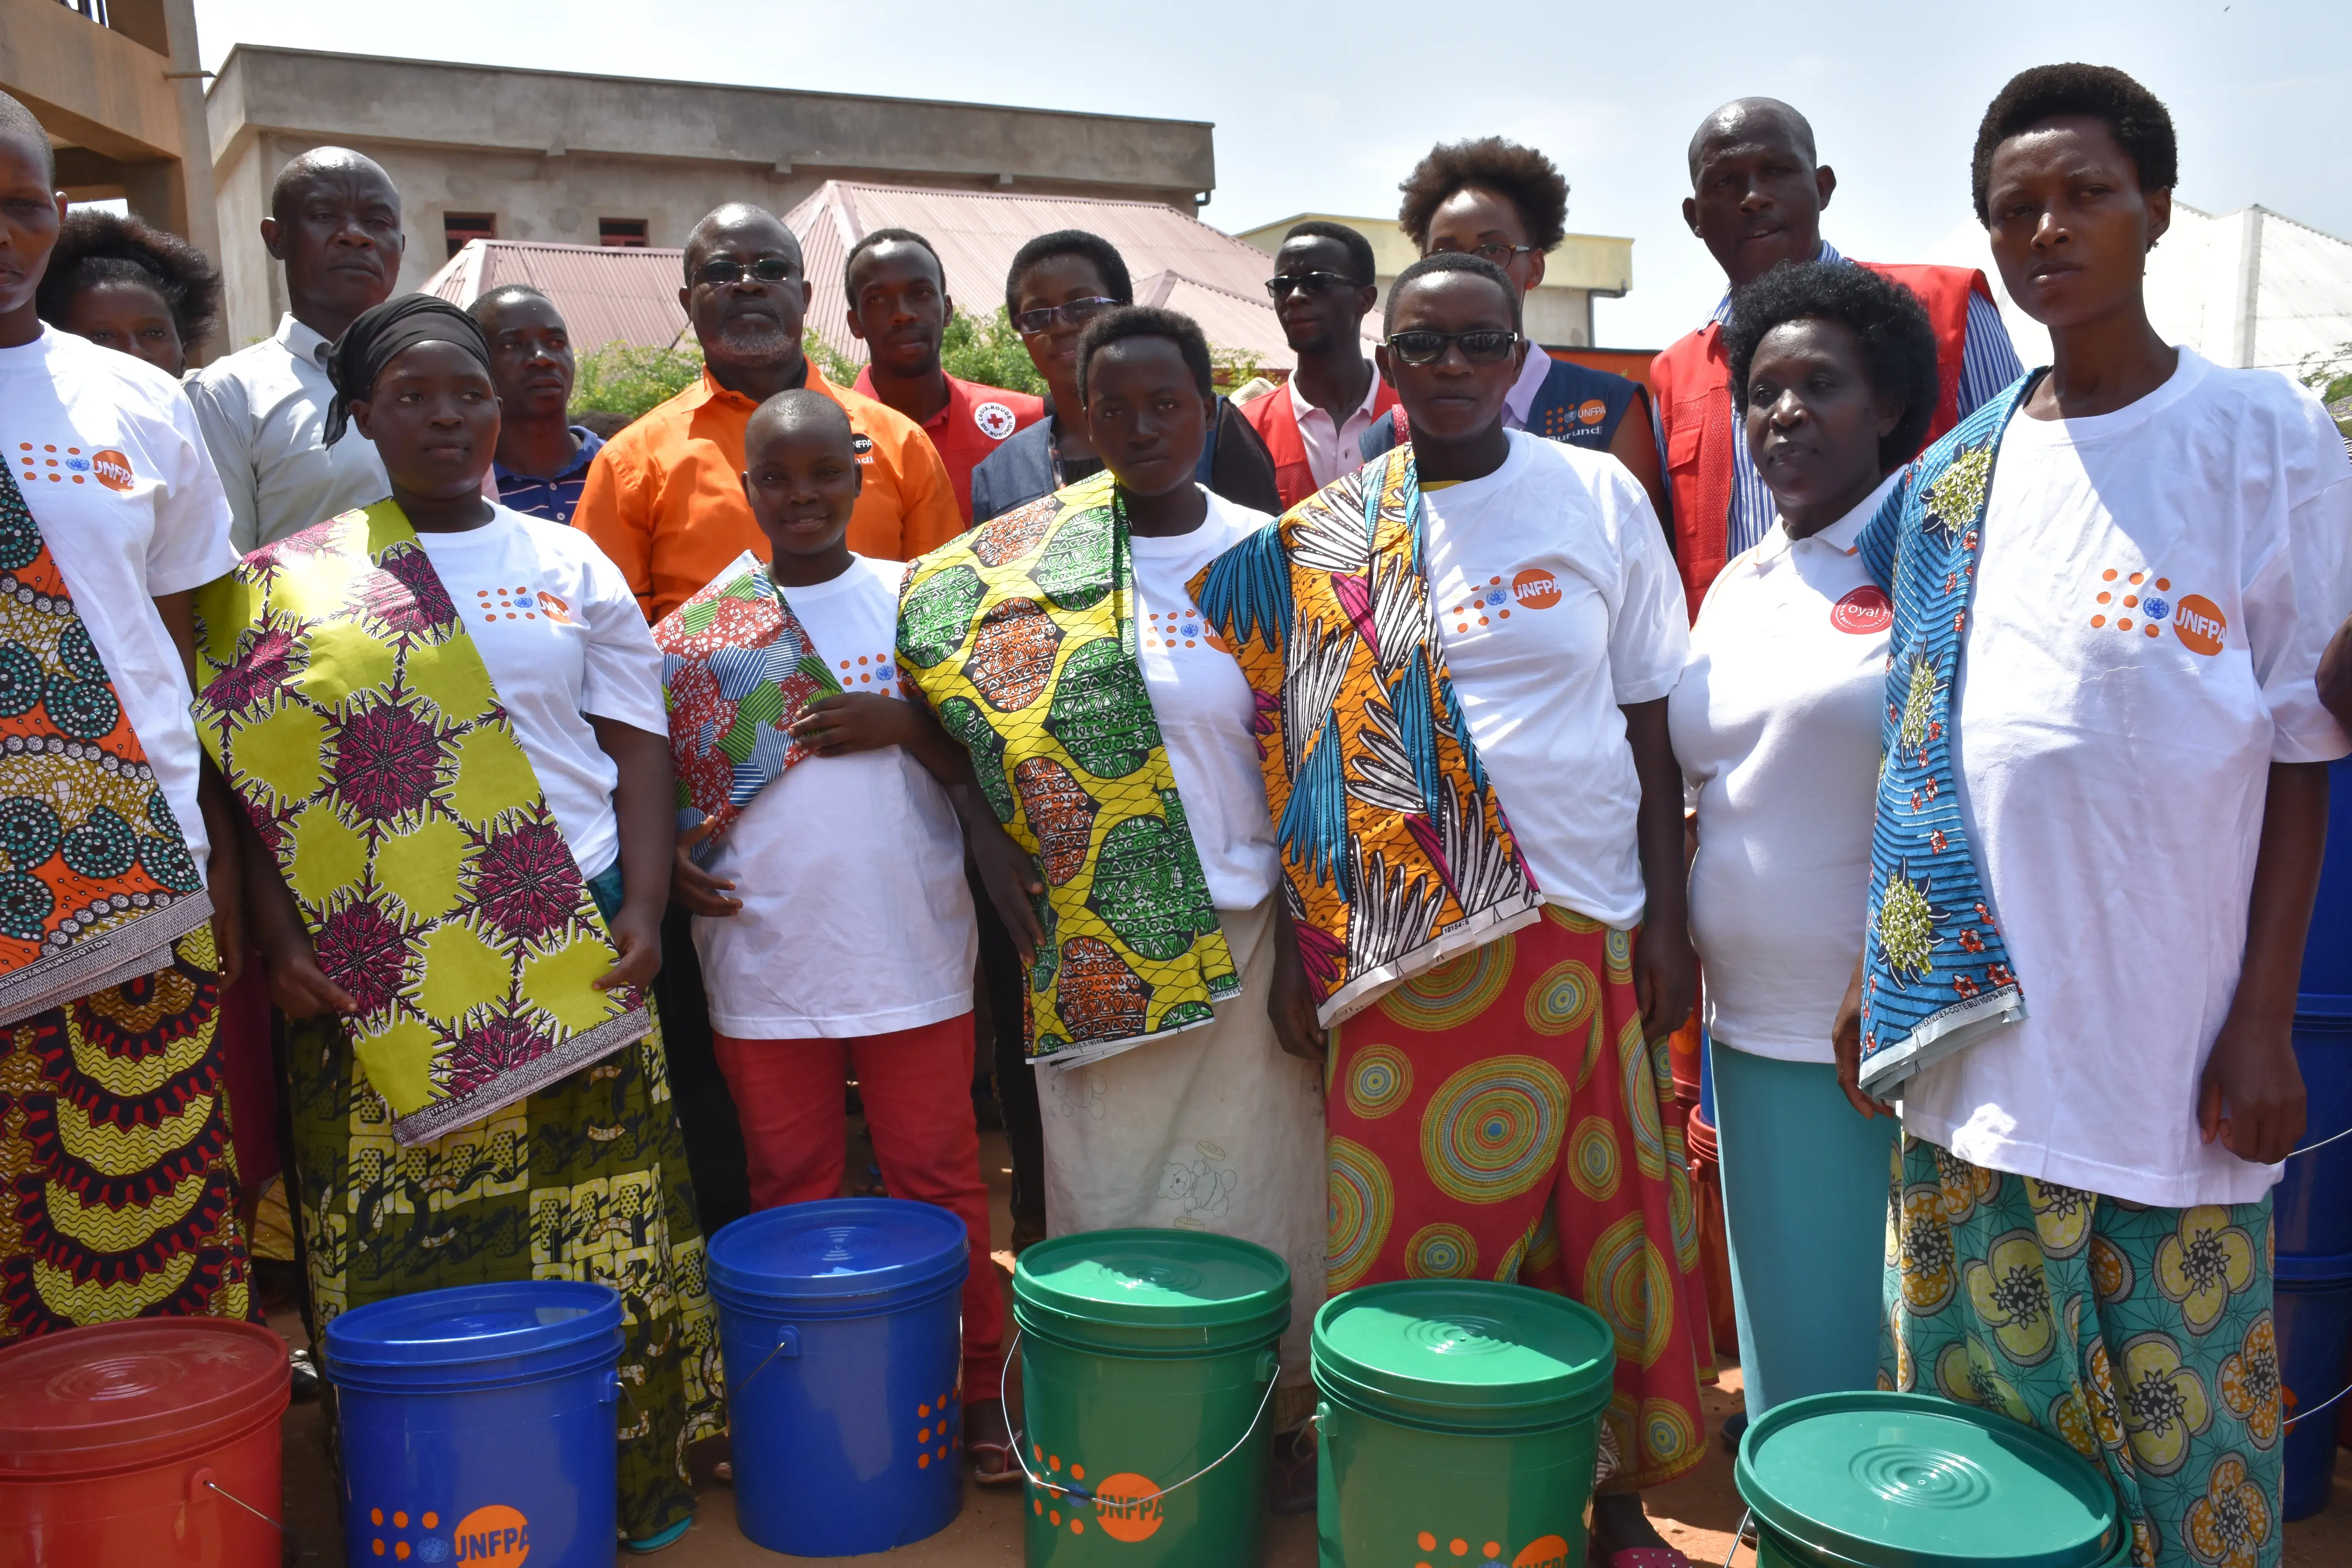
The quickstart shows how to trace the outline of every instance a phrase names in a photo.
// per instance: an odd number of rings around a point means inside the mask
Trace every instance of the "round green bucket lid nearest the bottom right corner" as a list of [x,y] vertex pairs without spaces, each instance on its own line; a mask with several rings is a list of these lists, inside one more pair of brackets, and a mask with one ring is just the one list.
[[1740,1497],[1865,1568],[2093,1568],[2114,1490],[2058,1439],[1931,1394],[1813,1394],[1748,1427]]

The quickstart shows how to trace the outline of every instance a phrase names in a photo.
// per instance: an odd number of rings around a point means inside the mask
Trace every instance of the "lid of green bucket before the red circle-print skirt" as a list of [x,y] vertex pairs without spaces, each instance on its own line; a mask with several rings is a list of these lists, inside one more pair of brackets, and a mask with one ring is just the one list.
[[1613,1380],[1609,1324],[1529,1286],[1399,1279],[1315,1314],[1315,1382],[1418,1427],[1557,1427],[1606,1406]]

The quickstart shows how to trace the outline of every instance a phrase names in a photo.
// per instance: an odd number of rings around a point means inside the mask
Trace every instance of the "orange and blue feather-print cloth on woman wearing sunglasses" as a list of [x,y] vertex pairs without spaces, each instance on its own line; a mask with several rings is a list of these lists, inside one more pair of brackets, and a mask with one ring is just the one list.
[[1397,447],[1216,557],[1192,599],[1258,693],[1265,799],[1324,1025],[1536,917],[1446,672]]

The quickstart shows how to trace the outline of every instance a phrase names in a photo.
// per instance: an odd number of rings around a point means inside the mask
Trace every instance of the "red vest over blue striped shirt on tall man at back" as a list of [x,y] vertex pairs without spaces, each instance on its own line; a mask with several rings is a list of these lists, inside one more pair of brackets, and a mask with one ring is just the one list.
[[[1933,442],[1959,423],[1959,360],[1969,341],[1969,294],[1992,299],[1985,275],[1962,266],[1882,266],[1872,273],[1891,277],[1919,296],[1936,329],[1936,418],[1926,440]],[[1708,322],[1649,362],[1649,388],[1665,421],[1665,484],[1675,501],[1675,564],[1691,618],[1708,597],[1708,583],[1724,569],[1731,538],[1731,442],[1745,440],[1731,416],[1731,360],[1724,355],[1724,329]]]

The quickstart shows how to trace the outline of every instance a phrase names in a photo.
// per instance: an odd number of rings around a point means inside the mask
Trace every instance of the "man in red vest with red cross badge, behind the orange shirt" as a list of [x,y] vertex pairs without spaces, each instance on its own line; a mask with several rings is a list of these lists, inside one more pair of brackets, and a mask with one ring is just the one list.
[[1044,397],[960,381],[938,364],[955,301],[938,252],[913,228],[877,228],[842,263],[849,334],[866,343],[858,390],[898,409],[931,437],[971,527],[971,470],[1014,430],[1044,418]]

